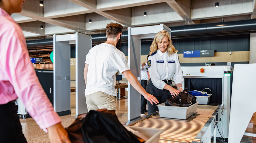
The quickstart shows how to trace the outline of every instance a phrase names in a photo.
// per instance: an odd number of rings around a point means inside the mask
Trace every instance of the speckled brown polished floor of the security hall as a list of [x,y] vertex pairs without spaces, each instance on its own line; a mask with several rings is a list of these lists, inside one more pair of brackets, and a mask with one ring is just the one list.
[[[121,100],[117,101],[117,117],[122,124],[127,123],[127,103],[128,101],[122,97]],[[147,115],[147,114],[146,114]],[[254,116],[253,116],[254,117]],[[68,127],[75,120],[75,92],[71,92],[71,114],[60,117],[62,119],[62,125]],[[254,118],[252,118],[254,119]],[[20,119],[23,134],[25,135],[28,143],[50,143],[47,133],[39,128],[36,122],[32,119]],[[246,132],[256,133],[255,124],[253,120],[248,125]],[[213,143],[213,138],[211,140]],[[217,138],[217,143],[223,143],[222,140]],[[244,136],[241,143],[256,143],[255,137]]]

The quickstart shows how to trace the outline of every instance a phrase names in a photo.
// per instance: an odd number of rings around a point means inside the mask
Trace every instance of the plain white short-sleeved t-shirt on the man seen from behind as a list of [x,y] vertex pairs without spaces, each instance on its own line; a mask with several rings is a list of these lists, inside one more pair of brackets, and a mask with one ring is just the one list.
[[85,95],[102,91],[116,95],[116,73],[130,70],[125,55],[114,45],[102,43],[94,46],[86,56],[89,64]]

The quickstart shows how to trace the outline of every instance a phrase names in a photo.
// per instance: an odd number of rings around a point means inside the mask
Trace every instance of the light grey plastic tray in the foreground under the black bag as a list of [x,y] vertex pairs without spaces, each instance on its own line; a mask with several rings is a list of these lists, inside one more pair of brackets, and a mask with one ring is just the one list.
[[128,126],[129,128],[138,131],[142,135],[145,135],[148,140],[145,143],[158,143],[160,134],[163,132],[162,129]]

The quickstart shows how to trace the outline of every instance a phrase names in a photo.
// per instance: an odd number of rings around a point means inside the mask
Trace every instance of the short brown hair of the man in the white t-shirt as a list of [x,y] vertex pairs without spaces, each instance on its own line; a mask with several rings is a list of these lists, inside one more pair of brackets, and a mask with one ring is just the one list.
[[106,35],[107,38],[115,38],[117,37],[118,33],[122,33],[123,26],[117,23],[110,23],[107,24],[106,27]]

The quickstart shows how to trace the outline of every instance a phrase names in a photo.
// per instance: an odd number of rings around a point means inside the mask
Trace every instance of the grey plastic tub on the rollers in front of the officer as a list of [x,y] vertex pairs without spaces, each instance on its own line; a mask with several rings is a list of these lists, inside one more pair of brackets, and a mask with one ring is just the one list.
[[197,111],[197,104],[188,107],[165,106],[165,103],[158,104],[159,115],[164,118],[188,119]]

